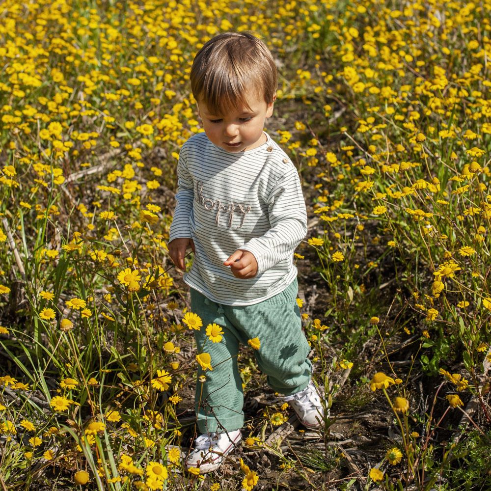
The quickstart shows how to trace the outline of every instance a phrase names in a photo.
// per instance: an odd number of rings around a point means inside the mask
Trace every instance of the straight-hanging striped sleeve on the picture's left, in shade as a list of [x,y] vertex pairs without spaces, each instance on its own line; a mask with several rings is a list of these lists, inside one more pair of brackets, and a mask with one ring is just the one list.
[[186,162],[186,148],[181,148],[177,164],[177,192],[174,218],[170,225],[169,242],[181,237],[191,238],[190,215],[194,199],[192,176]]

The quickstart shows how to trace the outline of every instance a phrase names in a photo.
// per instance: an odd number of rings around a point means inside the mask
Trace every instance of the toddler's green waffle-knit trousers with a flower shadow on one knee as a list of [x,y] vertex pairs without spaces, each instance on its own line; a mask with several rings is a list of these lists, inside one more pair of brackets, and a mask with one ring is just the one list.
[[[239,345],[259,338],[253,350],[268,385],[283,395],[303,390],[310,381],[312,364],[309,344],[301,330],[295,279],[271,299],[254,305],[221,305],[191,289],[191,311],[203,326],[195,332],[198,353],[209,353],[212,370],[198,368],[195,410],[201,433],[238,430],[244,426],[244,393],[237,368]],[[224,333],[213,343],[206,335],[209,324],[218,324]],[[252,349],[252,348],[250,348]],[[205,378],[203,378],[204,376]]]

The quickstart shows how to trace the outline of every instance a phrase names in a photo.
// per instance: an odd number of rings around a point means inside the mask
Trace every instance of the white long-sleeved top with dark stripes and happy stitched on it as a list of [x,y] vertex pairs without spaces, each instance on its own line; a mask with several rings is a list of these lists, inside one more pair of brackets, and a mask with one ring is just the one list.
[[[179,154],[169,241],[193,240],[194,260],[184,280],[220,304],[267,300],[297,276],[293,251],[307,233],[305,201],[295,166],[266,136],[260,147],[231,153],[198,133]],[[254,278],[236,278],[223,266],[237,249],[256,258]]]

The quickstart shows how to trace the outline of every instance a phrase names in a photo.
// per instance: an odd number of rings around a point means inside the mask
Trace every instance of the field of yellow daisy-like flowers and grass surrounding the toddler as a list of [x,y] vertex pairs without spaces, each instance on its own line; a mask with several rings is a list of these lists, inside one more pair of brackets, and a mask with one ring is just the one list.
[[[331,416],[291,427],[252,339],[243,446],[203,476],[192,330],[221,329],[167,241],[189,69],[227,30],[280,73]],[[0,60],[0,490],[491,489],[491,0],[4,0]]]

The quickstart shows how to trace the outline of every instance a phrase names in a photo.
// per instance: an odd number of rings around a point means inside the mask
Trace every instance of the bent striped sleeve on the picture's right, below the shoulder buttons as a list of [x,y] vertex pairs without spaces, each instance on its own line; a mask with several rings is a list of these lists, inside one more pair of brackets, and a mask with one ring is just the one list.
[[300,179],[295,168],[273,187],[268,199],[270,229],[248,241],[241,250],[251,252],[257,261],[257,274],[279,261],[292,258],[293,251],[307,234],[307,212]]

